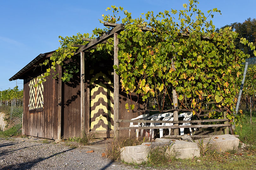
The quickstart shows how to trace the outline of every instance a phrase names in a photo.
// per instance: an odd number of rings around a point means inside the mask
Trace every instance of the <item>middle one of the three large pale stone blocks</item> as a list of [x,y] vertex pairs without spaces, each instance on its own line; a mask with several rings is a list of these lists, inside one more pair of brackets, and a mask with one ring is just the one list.
[[195,156],[200,157],[200,149],[195,142],[186,142],[175,139],[162,139],[157,138],[155,142],[162,143],[162,145],[169,145],[166,150],[166,154],[169,156],[175,156],[180,159],[193,158]]

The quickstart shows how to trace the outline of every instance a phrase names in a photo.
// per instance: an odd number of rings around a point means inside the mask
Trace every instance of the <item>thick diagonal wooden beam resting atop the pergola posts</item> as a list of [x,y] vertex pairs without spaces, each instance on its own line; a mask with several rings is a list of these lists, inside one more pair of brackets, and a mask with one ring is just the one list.
[[118,24],[113,29],[111,29],[108,32],[104,33],[103,35],[93,39],[93,41],[87,43],[86,45],[80,47],[78,52],[76,52],[75,54],[79,54],[80,51],[86,51],[89,48],[92,48],[92,47],[96,46],[97,44],[107,40],[108,38],[113,37],[114,32],[118,33],[118,32],[123,31],[123,30],[125,30],[124,25],[123,24]]

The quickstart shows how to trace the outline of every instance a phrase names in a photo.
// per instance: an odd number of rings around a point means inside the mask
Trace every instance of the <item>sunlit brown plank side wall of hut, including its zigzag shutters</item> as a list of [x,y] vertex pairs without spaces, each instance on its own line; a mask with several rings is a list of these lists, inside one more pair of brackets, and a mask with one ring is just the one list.
[[[56,139],[58,122],[58,81],[52,78],[53,71],[47,77],[47,81],[43,82],[40,87],[40,100],[34,99],[35,107],[31,105],[31,89],[33,84],[31,81],[36,79],[24,80],[24,104],[23,104],[23,134],[47,139]],[[39,87],[37,87],[39,88]],[[37,89],[34,88],[34,89]],[[35,90],[35,96],[38,97],[38,90]],[[36,97],[35,97],[36,98]],[[38,106],[40,105],[40,106]],[[57,110],[56,110],[57,108]]]

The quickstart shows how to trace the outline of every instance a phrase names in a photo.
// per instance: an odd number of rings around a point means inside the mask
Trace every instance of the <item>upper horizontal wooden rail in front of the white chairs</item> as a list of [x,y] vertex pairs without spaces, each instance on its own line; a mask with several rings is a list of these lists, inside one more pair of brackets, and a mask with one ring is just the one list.
[[[117,122],[133,123],[198,123],[198,122],[225,122],[229,119],[208,119],[208,120],[191,120],[191,121],[151,121],[151,120],[116,120]],[[224,123],[225,124],[225,123]]]

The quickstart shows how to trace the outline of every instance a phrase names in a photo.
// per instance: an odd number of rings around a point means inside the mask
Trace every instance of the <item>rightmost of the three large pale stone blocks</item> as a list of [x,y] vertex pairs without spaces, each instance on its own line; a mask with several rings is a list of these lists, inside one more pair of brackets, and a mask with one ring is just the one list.
[[211,138],[200,139],[203,140],[204,146],[209,142],[212,150],[217,152],[227,152],[228,150],[238,149],[239,139],[230,134],[216,135]]

